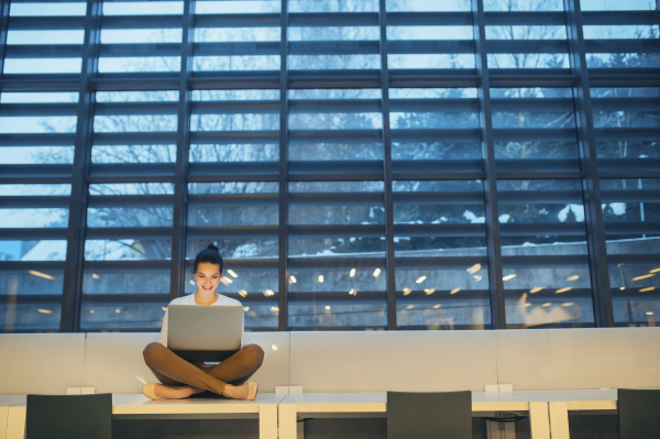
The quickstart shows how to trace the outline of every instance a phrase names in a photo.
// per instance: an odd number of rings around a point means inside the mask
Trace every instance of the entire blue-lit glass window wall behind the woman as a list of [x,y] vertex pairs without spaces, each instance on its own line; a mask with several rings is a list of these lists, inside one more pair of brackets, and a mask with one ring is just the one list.
[[642,0],[7,1],[0,331],[654,326]]

